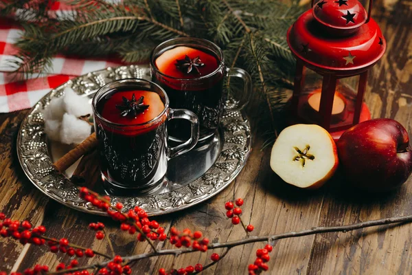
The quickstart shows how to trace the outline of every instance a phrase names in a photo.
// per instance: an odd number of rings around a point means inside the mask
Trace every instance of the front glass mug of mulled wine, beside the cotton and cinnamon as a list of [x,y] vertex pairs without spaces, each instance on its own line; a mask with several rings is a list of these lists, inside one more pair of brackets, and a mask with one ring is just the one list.
[[[196,146],[198,118],[185,109],[170,109],[159,85],[143,79],[115,80],[93,98],[95,133],[100,170],[105,183],[116,192],[151,192],[161,186],[168,159]],[[190,138],[168,146],[169,120],[188,120]]]

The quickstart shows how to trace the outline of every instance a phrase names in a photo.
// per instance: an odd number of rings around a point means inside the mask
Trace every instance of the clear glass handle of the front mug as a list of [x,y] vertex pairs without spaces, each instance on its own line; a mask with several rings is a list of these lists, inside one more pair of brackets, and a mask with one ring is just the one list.
[[189,120],[192,124],[192,127],[189,140],[187,140],[183,144],[179,144],[176,147],[168,148],[169,159],[192,150],[192,148],[196,146],[199,139],[199,120],[197,115],[195,115],[192,111],[186,109],[170,109],[168,120],[172,120],[174,118],[183,118],[185,120]]

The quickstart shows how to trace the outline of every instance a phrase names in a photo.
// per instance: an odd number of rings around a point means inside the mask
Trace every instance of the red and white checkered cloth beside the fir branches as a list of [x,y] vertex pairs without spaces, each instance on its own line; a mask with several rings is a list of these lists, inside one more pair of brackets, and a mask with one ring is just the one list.
[[[54,10],[65,10],[55,2]],[[40,78],[16,81],[10,72],[11,61],[17,53],[13,43],[22,34],[21,28],[10,19],[0,19],[0,113],[32,107],[51,89],[67,80],[106,67],[121,65],[117,58],[80,59],[56,56],[51,74]]]

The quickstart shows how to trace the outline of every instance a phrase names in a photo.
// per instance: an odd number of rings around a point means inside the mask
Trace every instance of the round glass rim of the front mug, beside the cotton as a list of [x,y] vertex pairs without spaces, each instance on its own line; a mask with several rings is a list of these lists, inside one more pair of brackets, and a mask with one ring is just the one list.
[[[120,124],[120,123],[116,123],[116,122],[111,122],[110,120],[107,120],[106,118],[103,118],[102,115],[98,112],[96,106],[97,106],[97,98],[98,98],[98,94],[101,94],[102,92],[106,91],[108,89],[108,87],[110,85],[116,84],[116,83],[122,83],[122,82],[127,82],[127,81],[131,81],[131,82],[135,82],[137,85],[141,82],[144,83],[149,83],[150,85],[154,85],[155,87],[157,87],[161,93],[163,94],[163,96],[165,97],[165,107],[163,108],[163,111],[161,111],[161,113],[159,113],[159,115],[157,115],[155,118],[152,118],[152,120],[149,120],[147,122],[144,123],[139,123],[139,124]],[[115,88],[113,88],[115,89]],[[156,91],[152,91],[154,93],[156,93]],[[91,107],[93,109],[93,114],[96,115],[100,120],[102,120],[103,122],[110,124],[111,126],[117,126],[119,128],[132,128],[132,127],[136,127],[136,126],[145,126],[147,124],[152,124],[153,122],[156,122],[157,120],[160,120],[161,117],[166,113],[166,111],[168,111],[169,109],[169,98],[168,98],[168,94],[166,94],[165,90],[160,87],[159,85],[157,85],[156,83],[150,81],[150,80],[146,80],[143,78],[123,78],[123,79],[117,79],[117,80],[113,80],[109,83],[107,83],[106,85],[104,85],[103,87],[100,87],[100,89],[98,89],[98,91],[96,91],[95,95],[93,96],[93,100],[91,102]],[[133,130],[137,130],[137,129],[133,129]]]

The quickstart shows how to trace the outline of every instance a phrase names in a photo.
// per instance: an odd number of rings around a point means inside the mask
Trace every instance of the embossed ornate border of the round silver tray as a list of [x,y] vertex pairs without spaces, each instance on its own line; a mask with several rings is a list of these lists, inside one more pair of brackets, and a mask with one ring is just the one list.
[[[47,108],[52,98],[62,96],[67,86],[78,94],[91,97],[106,83],[122,78],[150,79],[150,71],[145,65],[130,65],[108,67],[73,78],[38,101],[21,123],[17,155],[25,174],[45,195],[65,206],[106,215],[80,199],[78,188],[67,175],[61,175],[53,168],[54,159],[44,132],[41,111]],[[140,206],[151,216],[183,210],[213,197],[228,186],[244,167],[250,151],[251,131],[246,116],[242,111],[225,113],[215,137],[172,159],[167,175],[170,181],[161,190],[142,197],[111,195],[111,201],[123,203],[124,211]]]

